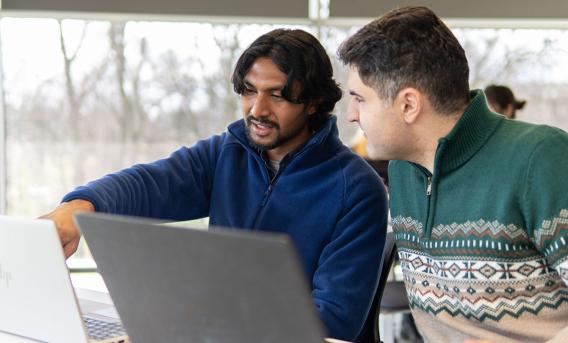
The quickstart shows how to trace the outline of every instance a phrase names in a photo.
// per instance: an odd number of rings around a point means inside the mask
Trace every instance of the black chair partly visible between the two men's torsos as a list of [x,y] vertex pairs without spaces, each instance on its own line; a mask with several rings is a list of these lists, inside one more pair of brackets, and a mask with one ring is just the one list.
[[363,325],[357,343],[379,343],[379,315],[381,313],[393,313],[408,310],[408,299],[402,281],[389,281],[389,272],[396,254],[394,233],[387,233],[383,257],[379,266],[380,276],[371,309]]

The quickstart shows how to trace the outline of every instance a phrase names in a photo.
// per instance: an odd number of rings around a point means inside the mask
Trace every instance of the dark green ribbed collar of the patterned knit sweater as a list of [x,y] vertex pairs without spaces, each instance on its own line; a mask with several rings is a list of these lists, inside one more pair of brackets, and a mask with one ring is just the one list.
[[467,162],[487,142],[504,118],[489,109],[483,91],[471,91],[470,97],[469,106],[452,131],[438,141],[435,173],[448,173]]

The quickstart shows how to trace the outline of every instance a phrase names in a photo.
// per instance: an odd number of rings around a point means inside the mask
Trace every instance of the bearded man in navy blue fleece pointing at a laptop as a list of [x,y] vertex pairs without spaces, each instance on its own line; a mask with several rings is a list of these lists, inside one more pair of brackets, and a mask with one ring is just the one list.
[[244,120],[78,187],[44,217],[56,223],[66,256],[79,242],[78,211],[208,216],[215,226],[288,234],[328,335],[353,340],[377,283],[387,202],[378,176],[338,138],[330,111],[341,90],[329,57],[309,33],[277,29],[243,52],[232,82]]

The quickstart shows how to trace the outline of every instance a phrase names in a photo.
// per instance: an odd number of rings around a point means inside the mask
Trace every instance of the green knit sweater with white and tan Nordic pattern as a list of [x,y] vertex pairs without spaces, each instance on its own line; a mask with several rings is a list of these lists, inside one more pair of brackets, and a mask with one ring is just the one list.
[[389,166],[412,314],[428,342],[568,342],[568,135],[471,96],[433,175]]

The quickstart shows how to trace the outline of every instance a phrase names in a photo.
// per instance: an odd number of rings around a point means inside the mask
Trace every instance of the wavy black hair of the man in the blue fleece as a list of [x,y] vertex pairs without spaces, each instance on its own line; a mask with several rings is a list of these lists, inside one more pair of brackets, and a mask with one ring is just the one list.
[[[284,99],[316,107],[308,125],[312,130],[319,129],[341,99],[341,89],[333,79],[331,61],[320,42],[308,32],[297,29],[276,29],[258,37],[235,66],[232,82],[237,94],[245,91],[245,76],[260,57],[269,58],[287,75],[282,89]],[[300,89],[295,96],[293,85],[296,81]]]

